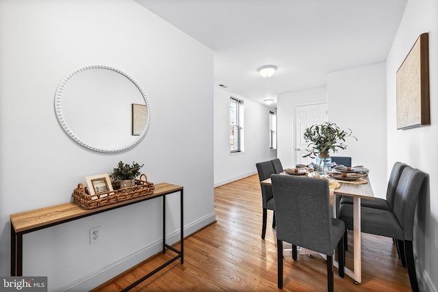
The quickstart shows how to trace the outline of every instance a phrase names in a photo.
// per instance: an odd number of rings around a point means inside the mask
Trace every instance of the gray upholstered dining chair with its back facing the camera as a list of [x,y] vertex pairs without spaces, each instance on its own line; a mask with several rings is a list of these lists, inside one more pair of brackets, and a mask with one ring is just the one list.
[[[327,287],[333,291],[333,254],[337,246],[339,276],[344,277],[342,220],[331,217],[329,181],[273,174],[275,200],[278,287],[283,289],[283,241],[327,256]],[[296,260],[296,252],[292,254]]]

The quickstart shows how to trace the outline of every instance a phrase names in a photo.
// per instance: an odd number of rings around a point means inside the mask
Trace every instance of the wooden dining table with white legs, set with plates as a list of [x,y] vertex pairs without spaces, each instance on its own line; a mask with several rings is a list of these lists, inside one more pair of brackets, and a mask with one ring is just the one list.
[[[335,182],[335,184],[330,185],[336,186],[331,187],[330,189],[330,193],[333,194],[333,196],[350,196],[353,198],[353,269],[344,267],[344,272],[354,280],[355,284],[359,284],[362,282],[361,198],[374,198],[370,179],[368,175],[361,178],[361,183],[355,183],[355,181],[342,181],[338,179],[335,180],[332,178],[309,179],[329,179],[329,181]],[[260,183],[263,185],[272,185],[271,178],[267,178]],[[337,187],[338,185],[339,187]],[[333,198],[331,198],[331,202],[333,202]],[[336,217],[336,207],[335,204],[333,205],[333,216]],[[337,261],[333,261],[333,265],[339,268]]]

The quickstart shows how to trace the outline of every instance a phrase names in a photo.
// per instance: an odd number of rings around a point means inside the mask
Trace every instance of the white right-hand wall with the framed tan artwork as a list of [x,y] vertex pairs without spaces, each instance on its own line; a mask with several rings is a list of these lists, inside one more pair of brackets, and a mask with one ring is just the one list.
[[[409,0],[387,58],[388,166],[400,160],[430,176],[417,202],[414,228],[417,276],[424,291],[438,291],[438,2]],[[420,34],[429,33],[430,126],[396,129],[396,72]]]

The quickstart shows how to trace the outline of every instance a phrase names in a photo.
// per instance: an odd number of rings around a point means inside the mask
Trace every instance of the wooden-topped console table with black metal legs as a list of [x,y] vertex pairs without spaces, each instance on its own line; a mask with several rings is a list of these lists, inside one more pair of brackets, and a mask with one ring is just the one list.
[[[181,248],[176,250],[172,246],[166,244],[166,195],[176,193],[179,191],[181,199]],[[51,226],[63,224],[73,220],[77,220],[83,217],[88,217],[91,215],[96,215],[120,207],[125,207],[130,204],[136,204],[145,200],[151,200],[153,198],[163,198],[163,253],[166,252],[166,248],[177,253],[177,256],[171,258],[168,262],[157,267],[157,269],[151,271],[151,273],[140,278],[129,287],[125,288],[123,291],[127,291],[140,282],[146,280],[157,271],[163,269],[173,261],[178,258],[181,260],[181,265],[184,263],[184,245],[183,245],[183,187],[179,185],[172,185],[170,183],[159,183],[155,185],[155,190],[153,194],[148,196],[142,196],[138,198],[133,198],[131,200],[125,200],[123,202],[118,202],[116,204],[110,204],[105,207],[100,207],[96,209],[86,210],[79,206],[75,202],[68,202],[66,204],[58,204],[52,207],[46,207],[42,209],[36,209],[32,211],[26,211],[22,213],[16,213],[10,215],[11,222],[11,276],[23,276],[23,235],[26,233],[31,233],[36,230],[41,230],[44,228],[49,228]]]

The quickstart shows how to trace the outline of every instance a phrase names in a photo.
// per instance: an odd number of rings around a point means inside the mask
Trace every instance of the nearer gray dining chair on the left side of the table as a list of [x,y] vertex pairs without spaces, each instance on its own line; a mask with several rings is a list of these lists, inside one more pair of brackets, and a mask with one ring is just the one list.
[[[257,172],[259,174],[259,181],[264,181],[274,174],[274,166],[271,161],[263,161],[256,163]],[[272,196],[272,187],[270,185],[262,185],[261,187],[261,204],[263,207],[263,219],[261,224],[261,238],[265,239],[266,235],[266,221],[268,220],[268,210],[274,211],[274,197]],[[272,228],[275,228],[275,211],[272,214]]]

